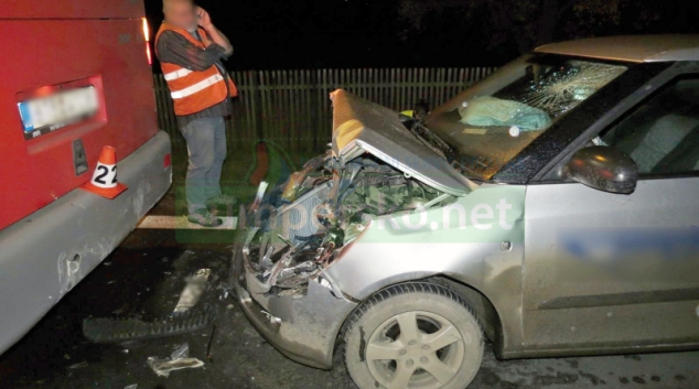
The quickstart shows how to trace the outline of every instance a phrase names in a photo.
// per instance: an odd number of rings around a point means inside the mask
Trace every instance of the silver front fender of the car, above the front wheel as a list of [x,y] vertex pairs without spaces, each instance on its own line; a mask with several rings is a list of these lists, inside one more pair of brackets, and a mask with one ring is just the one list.
[[[494,215],[497,223],[487,229],[476,228],[473,209],[501,198],[512,206],[505,217]],[[422,228],[389,228],[405,225],[405,215],[379,218],[345,248],[326,273],[343,293],[358,301],[395,283],[449,277],[490,299],[503,318],[499,346],[517,347],[521,343],[524,201],[525,186],[486,184],[455,203],[424,212]],[[465,223],[456,209],[465,210]],[[501,220],[512,228],[497,228]],[[433,223],[438,223],[437,228]],[[503,244],[510,246],[504,249]]]

